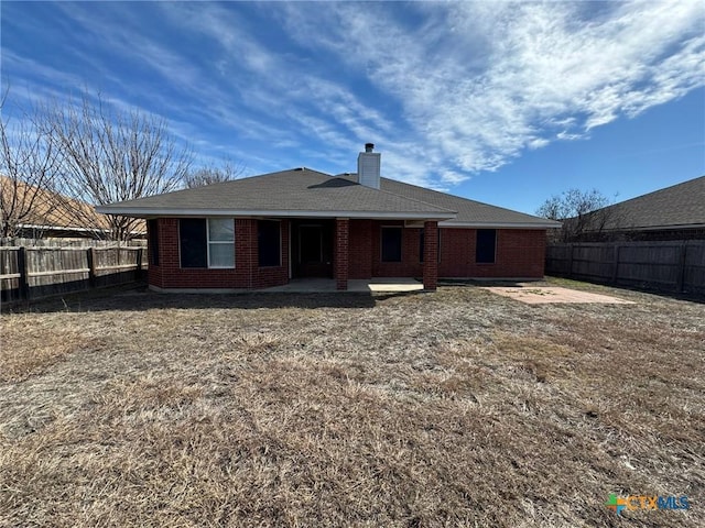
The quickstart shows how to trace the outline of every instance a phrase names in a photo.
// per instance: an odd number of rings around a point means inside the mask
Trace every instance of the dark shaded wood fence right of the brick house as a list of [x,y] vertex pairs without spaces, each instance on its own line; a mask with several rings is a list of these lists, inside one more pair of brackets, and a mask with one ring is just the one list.
[[546,274],[703,295],[705,240],[553,244]]

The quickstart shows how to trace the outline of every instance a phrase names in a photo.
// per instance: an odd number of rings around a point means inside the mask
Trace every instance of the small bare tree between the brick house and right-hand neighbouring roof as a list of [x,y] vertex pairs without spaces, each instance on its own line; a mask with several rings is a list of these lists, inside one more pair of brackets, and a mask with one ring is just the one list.
[[563,222],[557,239],[572,242],[582,238],[599,239],[612,216],[609,199],[596,189],[568,189],[544,201],[536,215]]

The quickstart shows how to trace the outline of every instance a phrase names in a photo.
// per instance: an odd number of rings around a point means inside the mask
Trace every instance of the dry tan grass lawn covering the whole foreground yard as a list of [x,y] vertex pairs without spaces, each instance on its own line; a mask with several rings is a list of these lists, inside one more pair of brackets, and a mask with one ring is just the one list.
[[704,526],[705,305],[570,286],[3,314],[0,526]]

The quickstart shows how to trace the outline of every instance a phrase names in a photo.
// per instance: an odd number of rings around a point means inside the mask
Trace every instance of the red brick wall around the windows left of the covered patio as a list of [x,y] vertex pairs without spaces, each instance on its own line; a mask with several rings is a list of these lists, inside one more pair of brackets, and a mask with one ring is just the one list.
[[178,219],[159,219],[160,265],[150,265],[149,283],[160,288],[264,288],[289,282],[289,221],[281,222],[281,265],[259,267],[257,220],[236,220],[235,268],[182,268]]

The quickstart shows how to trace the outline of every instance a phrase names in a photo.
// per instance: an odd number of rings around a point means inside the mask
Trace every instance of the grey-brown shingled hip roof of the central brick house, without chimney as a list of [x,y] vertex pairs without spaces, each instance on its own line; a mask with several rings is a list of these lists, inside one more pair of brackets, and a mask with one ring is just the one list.
[[444,226],[547,228],[557,222],[388,178],[380,189],[356,175],[294,168],[98,207],[134,217],[264,216],[438,220]]

